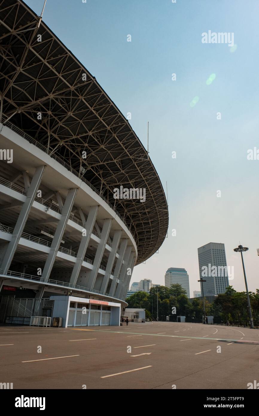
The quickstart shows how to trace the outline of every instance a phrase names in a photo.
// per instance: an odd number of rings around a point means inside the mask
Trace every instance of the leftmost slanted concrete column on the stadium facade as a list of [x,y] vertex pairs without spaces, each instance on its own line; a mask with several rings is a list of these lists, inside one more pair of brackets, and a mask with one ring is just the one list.
[[36,195],[37,190],[39,189],[39,184],[42,180],[42,176],[44,174],[46,166],[39,166],[36,168],[35,174],[32,178],[32,182],[30,187],[28,188],[26,200],[22,205],[22,209],[20,210],[19,217],[16,221],[15,228],[12,233],[12,240],[8,244],[7,250],[5,252],[5,256],[2,260],[1,268],[3,269],[3,274],[6,275],[7,270],[10,267],[12,262],[13,256],[15,254],[15,250],[19,243],[20,237],[22,235],[22,231],[25,227],[27,218],[30,213],[30,209],[32,208],[32,204]]

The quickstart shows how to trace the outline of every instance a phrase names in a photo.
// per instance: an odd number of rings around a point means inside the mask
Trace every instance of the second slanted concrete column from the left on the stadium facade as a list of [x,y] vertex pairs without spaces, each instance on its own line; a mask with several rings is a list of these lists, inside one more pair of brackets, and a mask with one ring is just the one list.
[[69,219],[69,215],[71,213],[71,210],[73,208],[74,205],[74,200],[76,198],[76,193],[77,193],[78,189],[77,188],[72,188],[69,189],[68,193],[67,193],[67,198],[66,201],[64,203],[64,207],[62,210],[62,214],[61,214],[61,218],[57,224],[57,228],[52,240],[52,244],[50,246],[50,252],[48,254],[46,263],[44,265],[44,269],[42,271],[42,280],[44,282],[47,282],[49,279],[49,275],[51,273],[52,267],[54,265],[54,261],[57,255],[57,252],[59,250],[59,245],[61,243],[63,234],[64,234],[64,230],[67,226],[67,221]]

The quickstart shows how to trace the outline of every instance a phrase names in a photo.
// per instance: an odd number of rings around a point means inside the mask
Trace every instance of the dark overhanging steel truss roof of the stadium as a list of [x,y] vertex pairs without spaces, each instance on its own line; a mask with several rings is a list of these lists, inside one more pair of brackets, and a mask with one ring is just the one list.
[[[0,56],[1,112],[115,203],[136,240],[136,264],[153,255],[167,233],[168,206],[153,163],[123,114],[21,0],[0,0]],[[119,186],[146,188],[146,201],[114,200]]]

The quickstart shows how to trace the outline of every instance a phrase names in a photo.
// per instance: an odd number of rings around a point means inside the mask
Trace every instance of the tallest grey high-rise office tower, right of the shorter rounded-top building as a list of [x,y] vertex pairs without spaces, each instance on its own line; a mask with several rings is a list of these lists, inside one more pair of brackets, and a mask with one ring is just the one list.
[[[229,286],[225,246],[222,243],[208,243],[198,248],[200,279],[204,295],[224,293]],[[202,287],[201,287],[202,290]]]

